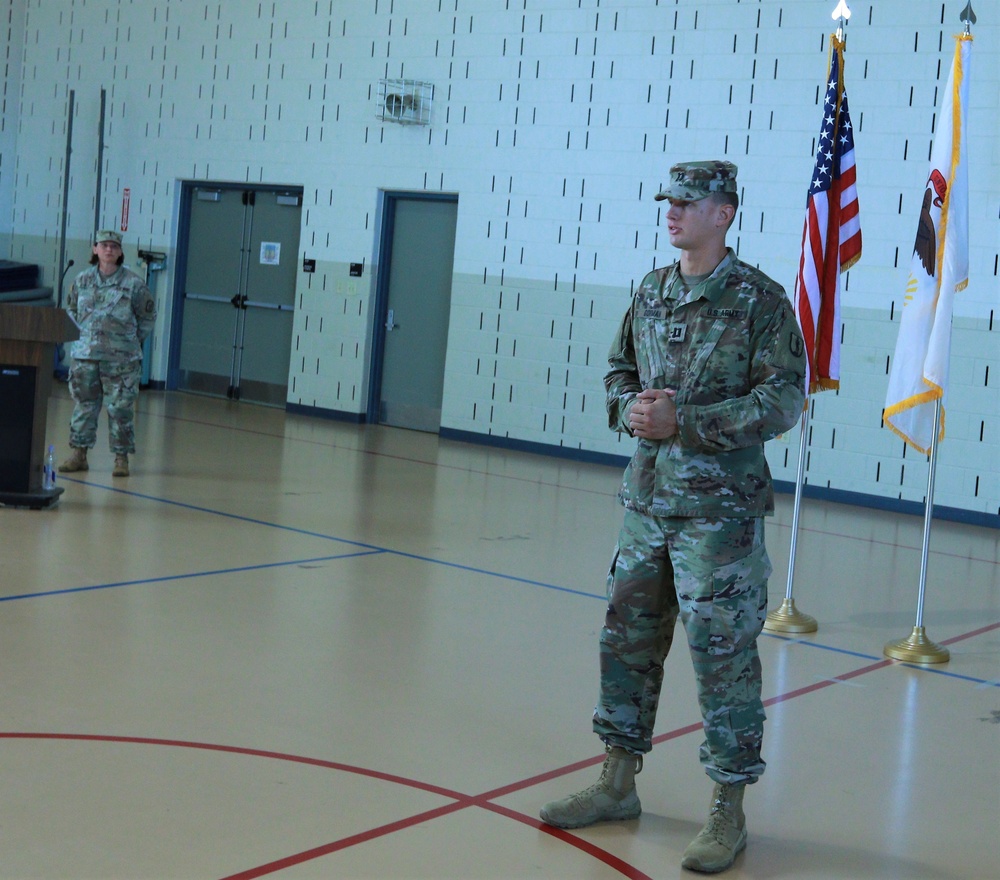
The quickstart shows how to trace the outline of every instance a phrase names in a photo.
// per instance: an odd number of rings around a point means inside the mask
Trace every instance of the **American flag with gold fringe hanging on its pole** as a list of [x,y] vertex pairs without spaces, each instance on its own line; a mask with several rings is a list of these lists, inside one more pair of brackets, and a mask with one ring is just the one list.
[[808,354],[809,393],[840,387],[840,273],[861,256],[854,129],[844,88],[844,42],[830,35],[830,74],[802,228],[795,315]]

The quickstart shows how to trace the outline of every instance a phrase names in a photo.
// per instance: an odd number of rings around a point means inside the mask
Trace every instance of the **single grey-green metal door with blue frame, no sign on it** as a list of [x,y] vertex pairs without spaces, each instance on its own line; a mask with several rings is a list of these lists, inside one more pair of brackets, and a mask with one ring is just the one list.
[[441,427],[457,214],[454,196],[386,197],[371,421]]

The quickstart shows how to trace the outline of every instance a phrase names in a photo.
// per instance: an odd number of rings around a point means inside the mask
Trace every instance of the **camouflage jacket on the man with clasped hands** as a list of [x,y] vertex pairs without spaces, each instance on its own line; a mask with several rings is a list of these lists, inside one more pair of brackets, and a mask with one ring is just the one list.
[[805,347],[779,284],[730,249],[690,291],[679,264],[639,285],[608,356],[612,430],[644,388],[675,389],[677,433],[638,440],[619,500],[654,516],[774,510],[764,441],[802,415]]

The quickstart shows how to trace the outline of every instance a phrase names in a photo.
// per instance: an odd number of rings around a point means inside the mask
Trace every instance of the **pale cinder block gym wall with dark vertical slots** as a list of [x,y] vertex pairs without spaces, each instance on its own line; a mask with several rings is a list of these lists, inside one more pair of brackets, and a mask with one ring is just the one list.
[[[794,285],[833,0],[2,0],[0,245],[54,284],[76,112],[68,255],[95,200],[162,250],[153,377],[166,375],[182,180],[301,185],[289,402],[364,411],[378,191],[457,193],[443,425],[625,455],[605,427],[608,342],[642,275],[673,259],[652,199],[671,163],[726,157],[731,242]],[[964,2],[853,2],[846,79],[864,253],[844,277],[843,382],[813,401],[810,486],[920,501],[926,461],[880,427],[936,111]],[[956,299],[935,500],[1000,515],[1000,34],[974,28],[971,272]],[[377,83],[434,83],[428,126],[376,118]],[[104,183],[96,126],[106,90]],[[360,283],[348,265],[365,263]],[[769,444],[794,480],[797,430]],[[989,521],[993,521],[989,519]]]

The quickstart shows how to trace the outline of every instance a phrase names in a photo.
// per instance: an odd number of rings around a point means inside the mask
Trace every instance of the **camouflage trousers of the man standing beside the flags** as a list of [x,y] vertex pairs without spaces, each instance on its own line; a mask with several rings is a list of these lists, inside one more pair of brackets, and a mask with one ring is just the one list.
[[716,782],[755,782],[764,772],[757,636],[770,574],[762,518],[627,510],[600,637],[594,731],[601,739],[639,754],[652,748],[663,661],[679,616],[694,664],[705,772]]

